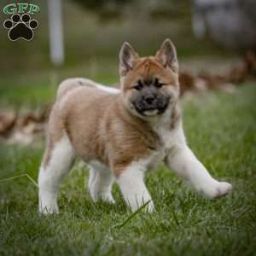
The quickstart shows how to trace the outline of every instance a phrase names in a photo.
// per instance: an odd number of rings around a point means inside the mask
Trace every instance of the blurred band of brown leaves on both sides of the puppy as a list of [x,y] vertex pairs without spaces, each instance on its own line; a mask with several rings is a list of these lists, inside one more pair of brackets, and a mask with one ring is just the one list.
[[[256,78],[256,55],[248,53],[239,66],[231,68],[227,73],[193,75],[189,72],[180,72],[181,96],[215,89],[233,92],[236,85],[252,78]],[[0,111],[0,142],[28,144],[35,138],[43,137],[49,109],[47,107],[26,114]]]

